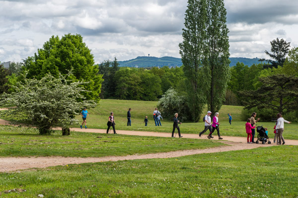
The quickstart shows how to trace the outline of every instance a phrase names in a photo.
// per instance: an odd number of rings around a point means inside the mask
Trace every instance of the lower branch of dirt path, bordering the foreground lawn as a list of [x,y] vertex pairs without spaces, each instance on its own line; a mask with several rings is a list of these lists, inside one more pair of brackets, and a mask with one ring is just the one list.
[[[206,149],[182,150],[171,151],[163,153],[152,154],[135,154],[127,156],[107,156],[107,157],[4,157],[0,158],[0,172],[16,171],[29,168],[46,168],[50,166],[68,165],[68,164],[81,164],[81,163],[94,163],[106,161],[121,161],[121,160],[134,160],[134,159],[154,159],[154,158],[172,158],[181,157],[186,155],[225,152],[232,150],[252,149],[260,146],[270,146],[270,144],[243,144],[239,142],[224,142],[228,145],[219,146]],[[271,144],[272,145],[272,144]]]

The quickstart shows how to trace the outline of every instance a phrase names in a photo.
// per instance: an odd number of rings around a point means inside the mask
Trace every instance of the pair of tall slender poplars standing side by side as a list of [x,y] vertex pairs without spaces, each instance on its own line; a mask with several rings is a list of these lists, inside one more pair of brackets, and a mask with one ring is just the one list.
[[229,79],[229,43],[224,0],[188,0],[179,45],[188,83],[189,107],[198,122],[208,101],[219,111]]

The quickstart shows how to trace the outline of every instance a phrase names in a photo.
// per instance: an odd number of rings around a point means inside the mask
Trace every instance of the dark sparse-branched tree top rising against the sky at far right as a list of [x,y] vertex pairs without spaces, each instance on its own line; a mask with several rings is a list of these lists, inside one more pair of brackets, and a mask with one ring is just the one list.
[[269,53],[265,50],[265,53],[274,60],[270,60],[272,66],[283,66],[286,57],[290,50],[290,42],[285,41],[284,39],[276,38],[273,41],[270,41],[271,44],[271,52]]

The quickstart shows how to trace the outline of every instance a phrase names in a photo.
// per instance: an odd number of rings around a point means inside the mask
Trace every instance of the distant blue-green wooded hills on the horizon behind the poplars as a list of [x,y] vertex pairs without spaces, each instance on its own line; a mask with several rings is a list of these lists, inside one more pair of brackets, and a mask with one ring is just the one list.
[[[235,66],[237,62],[243,63],[247,66],[252,66],[253,64],[259,64],[258,58],[229,58],[231,63],[230,66]],[[128,67],[150,67],[150,66],[182,66],[182,61],[179,58],[174,57],[137,57],[128,61],[119,61],[119,66]]]

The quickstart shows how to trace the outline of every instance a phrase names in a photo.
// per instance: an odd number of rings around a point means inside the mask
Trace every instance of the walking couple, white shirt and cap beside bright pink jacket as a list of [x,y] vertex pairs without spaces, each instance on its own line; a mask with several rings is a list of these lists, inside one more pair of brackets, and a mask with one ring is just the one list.
[[205,122],[205,129],[202,132],[200,132],[199,136],[201,137],[204,132],[209,130],[210,133],[207,137],[208,137],[208,139],[211,139],[211,138],[213,138],[212,133],[215,130],[217,130],[219,139],[223,139],[220,134],[219,113],[218,112],[215,113],[215,115],[213,117],[213,123],[211,123],[211,114],[212,114],[212,112],[208,111],[207,115],[204,117],[203,121]]

